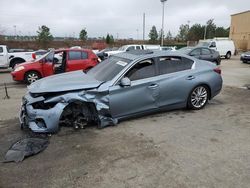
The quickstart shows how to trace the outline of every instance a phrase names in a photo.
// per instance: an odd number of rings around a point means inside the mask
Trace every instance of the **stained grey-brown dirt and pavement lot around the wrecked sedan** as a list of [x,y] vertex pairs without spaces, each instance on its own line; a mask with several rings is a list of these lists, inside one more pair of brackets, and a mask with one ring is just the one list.
[[[63,128],[48,148],[0,164],[0,187],[249,187],[250,66],[222,61],[224,87],[200,111],[175,110],[98,130]],[[0,73],[1,82],[11,82]],[[20,84],[0,90],[0,160],[24,137]]]

